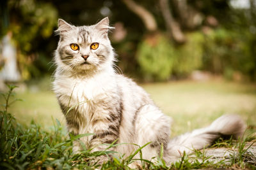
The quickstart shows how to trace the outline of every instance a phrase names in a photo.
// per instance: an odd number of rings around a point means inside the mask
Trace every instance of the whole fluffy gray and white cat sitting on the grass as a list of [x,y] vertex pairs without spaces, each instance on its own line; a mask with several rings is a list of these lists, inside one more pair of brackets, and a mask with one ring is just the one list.
[[[60,41],[55,53],[56,72],[53,89],[73,134],[93,133],[81,138],[93,151],[104,150],[102,143],[145,145],[143,159],[156,157],[164,148],[164,160],[170,162],[184,151],[202,149],[220,138],[239,138],[246,128],[237,115],[225,115],[209,127],[196,129],[170,139],[171,119],[154,104],[147,92],[134,81],[116,73],[115,53],[108,38],[108,18],[95,25],[76,27],[58,21]],[[73,151],[81,146],[73,143]],[[135,145],[118,145],[113,150],[129,155]]]

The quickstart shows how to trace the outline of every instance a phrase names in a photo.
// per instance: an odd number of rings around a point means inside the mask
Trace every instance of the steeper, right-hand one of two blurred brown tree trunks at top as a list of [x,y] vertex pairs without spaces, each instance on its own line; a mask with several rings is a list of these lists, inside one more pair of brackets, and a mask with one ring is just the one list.
[[176,22],[175,19],[172,17],[172,12],[169,8],[168,0],[159,0],[159,5],[164,17],[166,27],[170,32],[172,38],[177,43],[184,43],[186,41],[186,38],[183,32],[180,30],[179,23]]

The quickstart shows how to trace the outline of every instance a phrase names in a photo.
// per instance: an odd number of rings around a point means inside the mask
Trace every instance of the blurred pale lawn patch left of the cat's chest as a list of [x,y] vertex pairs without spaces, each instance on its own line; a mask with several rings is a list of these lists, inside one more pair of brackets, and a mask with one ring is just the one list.
[[61,123],[65,123],[58,101],[51,91],[26,90],[17,92],[16,97],[22,101],[14,103],[10,112],[21,124],[29,125],[34,120],[36,124],[47,128],[53,125],[52,118],[58,118]]

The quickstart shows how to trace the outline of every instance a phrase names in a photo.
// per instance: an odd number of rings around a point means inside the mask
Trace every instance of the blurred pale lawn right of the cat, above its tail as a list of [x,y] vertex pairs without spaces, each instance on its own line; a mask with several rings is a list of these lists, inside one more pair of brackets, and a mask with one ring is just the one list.
[[179,81],[143,85],[167,115],[173,135],[204,127],[227,113],[236,113],[256,127],[256,86],[228,81]]

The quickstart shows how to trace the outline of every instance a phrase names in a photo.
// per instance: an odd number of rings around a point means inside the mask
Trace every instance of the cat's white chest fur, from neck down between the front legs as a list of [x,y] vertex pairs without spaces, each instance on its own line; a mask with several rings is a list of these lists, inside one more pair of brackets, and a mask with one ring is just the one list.
[[[66,108],[74,108],[77,111],[76,114],[79,114],[76,121],[79,122],[79,128],[69,129],[78,134],[95,133],[99,131],[98,128],[108,129],[104,121],[99,121],[102,124],[94,127],[92,122],[109,117],[106,110],[101,108],[101,104],[106,101],[109,103],[115,91],[115,76],[111,74],[98,74],[93,78],[58,76],[54,81],[54,92],[60,103]],[[88,138],[84,138],[84,142],[88,143]]]

